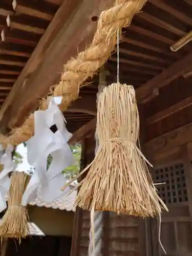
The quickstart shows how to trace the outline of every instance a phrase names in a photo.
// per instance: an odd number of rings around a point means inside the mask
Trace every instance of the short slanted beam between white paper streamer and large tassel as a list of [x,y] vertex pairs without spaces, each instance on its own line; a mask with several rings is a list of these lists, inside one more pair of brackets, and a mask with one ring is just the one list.
[[94,118],[88,123],[84,124],[82,127],[80,127],[72,136],[72,138],[69,140],[70,145],[74,145],[75,143],[81,141],[83,138],[86,138],[88,134],[94,131],[96,127],[97,119]]

